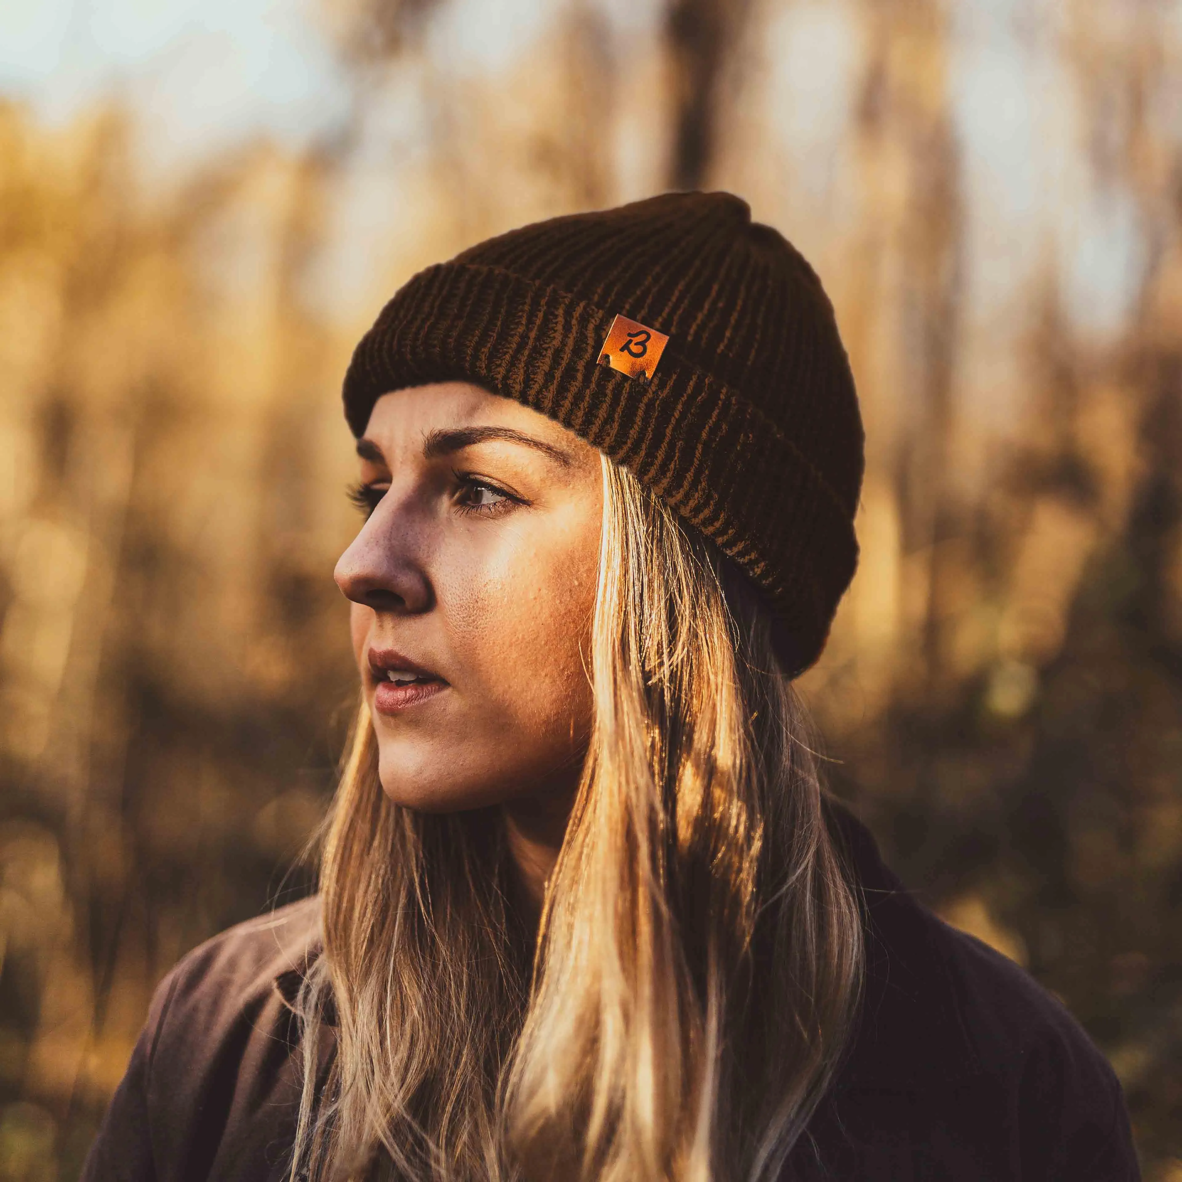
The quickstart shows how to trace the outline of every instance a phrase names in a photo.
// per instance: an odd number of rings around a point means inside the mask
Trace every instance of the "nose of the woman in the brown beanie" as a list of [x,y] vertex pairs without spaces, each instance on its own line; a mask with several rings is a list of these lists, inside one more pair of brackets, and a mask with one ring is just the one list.
[[433,593],[422,560],[422,533],[423,524],[387,493],[337,561],[337,586],[353,603],[375,611],[427,611]]

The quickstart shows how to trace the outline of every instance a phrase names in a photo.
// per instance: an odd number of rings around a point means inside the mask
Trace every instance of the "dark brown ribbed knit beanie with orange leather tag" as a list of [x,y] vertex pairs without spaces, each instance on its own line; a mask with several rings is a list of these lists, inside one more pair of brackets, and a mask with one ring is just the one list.
[[345,417],[359,436],[381,395],[449,379],[628,466],[765,592],[788,669],[817,660],[857,564],[862,420],[820,280],[746,202],[668,193],[427,267],[358,344]]

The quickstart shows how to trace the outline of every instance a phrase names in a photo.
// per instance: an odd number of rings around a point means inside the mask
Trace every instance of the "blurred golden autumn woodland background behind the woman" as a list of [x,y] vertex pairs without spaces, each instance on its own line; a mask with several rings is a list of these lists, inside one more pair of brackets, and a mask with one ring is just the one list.
[[[15,59],[48,9],[9,4]],[[1182,1180],[1180,5],[273,0],[303,105],[240,134],[251,87],[176,57],[222,8],[136,85],[0,105],[0,1175],[74,1177],[160,976],[309,889],[382,300],[717,187],[816,264],[863,402],[862,569],[803,683],[833,784]]]

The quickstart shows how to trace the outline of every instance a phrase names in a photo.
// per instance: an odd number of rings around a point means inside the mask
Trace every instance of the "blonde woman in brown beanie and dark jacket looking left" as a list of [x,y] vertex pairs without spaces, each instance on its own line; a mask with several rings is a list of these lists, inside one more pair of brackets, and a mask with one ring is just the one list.
[[189,954],[98,1178],[1137,1177],[1121,1090],[823,793],[857,400],[728,194],[429,267],[344,388],[362,706],[318,898]]

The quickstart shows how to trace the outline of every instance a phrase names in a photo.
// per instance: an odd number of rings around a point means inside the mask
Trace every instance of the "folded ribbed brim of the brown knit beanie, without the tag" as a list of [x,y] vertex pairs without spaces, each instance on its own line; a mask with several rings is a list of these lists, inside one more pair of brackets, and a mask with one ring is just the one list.
[[349,426],[361,436],[383,394],[457,379],[548,415],[736,561],[769,600],[795,675],[819,656],[853,576],[853,506],[676,336],[649,381],[597,364],[618,311],[495,266],[428,267],[358,344],[344,383]]

